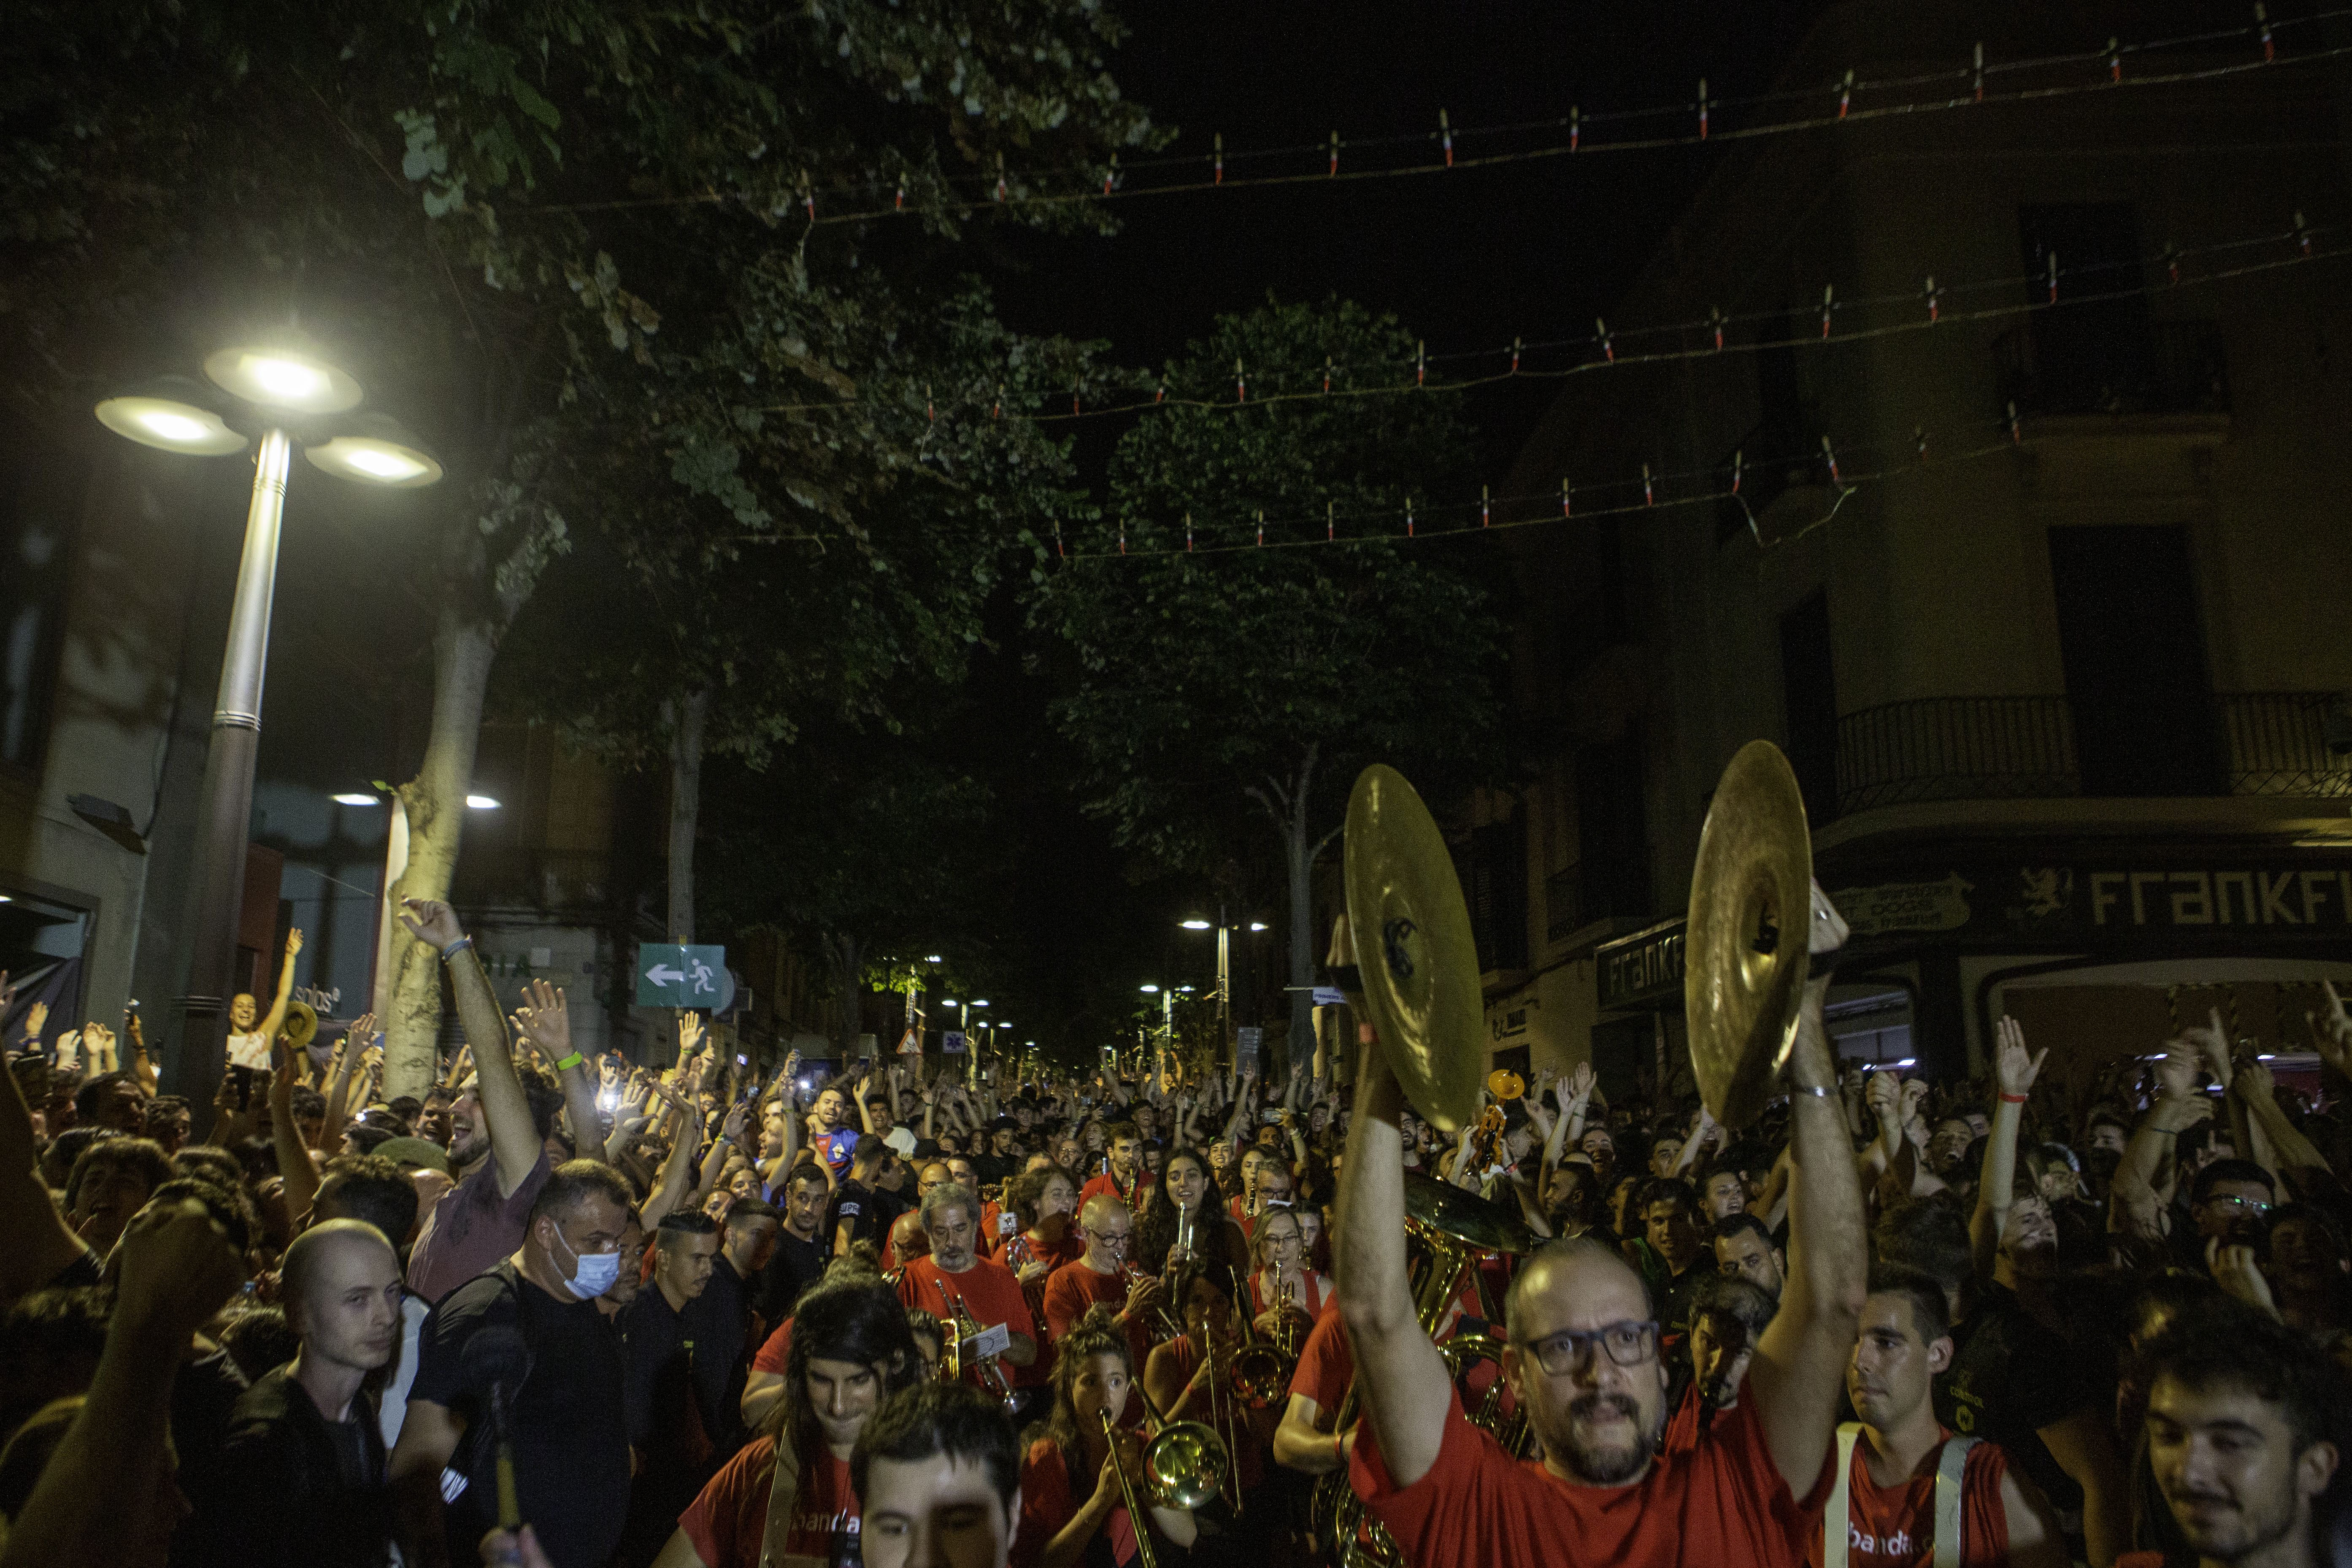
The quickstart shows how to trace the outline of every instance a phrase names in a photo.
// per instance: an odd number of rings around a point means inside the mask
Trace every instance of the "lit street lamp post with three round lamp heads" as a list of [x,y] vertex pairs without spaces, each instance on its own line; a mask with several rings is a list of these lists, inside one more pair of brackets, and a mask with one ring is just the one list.
[[181,931],[186,980],[176,999],[179,1030],[165,1056],[165,1091],[195,1105],[212,1100],[219,1084],[228,997],[235,990],[230,971],[245,900],[254,755],[261,750],[261,677],[270,651],[278,531],[294,447],[299,442],[315,468],[362,484],[416,489],[442,477],[433,454],[397,423],[353,414],[365,400],[360,383],[313,353],[278,343],[223,348],[205,360],[205,376],[219,390],[188,376],[167,376],[96,407],[101,425],[160,451],[230,456],[259,442],[245,552],[228,609],[228,649],[221,656],[195,809],[198,853]]

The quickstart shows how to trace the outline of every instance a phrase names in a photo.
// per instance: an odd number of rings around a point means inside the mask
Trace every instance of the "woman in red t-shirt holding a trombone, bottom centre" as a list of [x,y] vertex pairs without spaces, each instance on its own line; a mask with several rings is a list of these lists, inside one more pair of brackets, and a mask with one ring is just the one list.
[[[1021,1462],[1021,1530],[1014,1535],[1011,1568],[1120,1568],[1136,1561],[1136,1526],[1127,1514],[1120,1469],[1110,1443],[1120,1443],[1127,1481],[1143,1495],[1143,1439],[1122,1429],[1103,1432],[1103,1415],[1120,1422],[1134,1389],[1134,1352],[1110,1307],[1091,1307],[1061,1340],[1054,1363],[1054,1413],[1030,1427]],[[1080,1495],[1084,1479],[1094,1488]],[[1152,1556],[1183,1561],[1192,1547],[1192,1514],[1150,1507]]]

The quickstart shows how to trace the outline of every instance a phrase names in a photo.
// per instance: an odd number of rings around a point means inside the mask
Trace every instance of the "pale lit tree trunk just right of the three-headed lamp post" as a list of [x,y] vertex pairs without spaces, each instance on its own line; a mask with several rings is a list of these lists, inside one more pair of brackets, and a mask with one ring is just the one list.
[[[433,632],[433,729],[416,778],[400,785],[409,813],[409,870],[400,898],[449,898],[466,792],[482,738],[482,693],[496,635],[456,599],[445,599]],[[383,1025],[383,1093],[423,1095],[440,1077],[440,954],[405,929],[393,936],[393,1016]]]

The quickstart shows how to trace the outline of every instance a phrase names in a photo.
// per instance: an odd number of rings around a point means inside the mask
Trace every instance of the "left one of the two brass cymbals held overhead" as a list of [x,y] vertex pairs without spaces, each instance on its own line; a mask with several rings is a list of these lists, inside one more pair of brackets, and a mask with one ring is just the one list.
[[1348,797],[1348,929],[1381,1058],[1416,1112],[1454,1135],[1477,1119],[1486,999],[1454,856],[1392,766]]

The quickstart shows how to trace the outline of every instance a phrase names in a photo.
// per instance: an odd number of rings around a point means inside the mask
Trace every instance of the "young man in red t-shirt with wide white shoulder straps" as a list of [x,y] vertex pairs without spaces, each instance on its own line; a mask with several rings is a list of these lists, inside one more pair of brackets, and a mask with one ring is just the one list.
[[1884,1262],[1870,1269],[1863,1335],[1846,1368],[1846,1396],[1860,1420],[1837,1429],[1846,1474],[1842,1486],[1832,1481],[1813,1568],[1912,1568],[1931,1554],[1947,1561],[1936,1505],[1955,1483],[1952,1568],[2065,1568],[2065,1537],[2042,1490],[2009,1469],[1999,1443],[1952,1448],[1952,1434],[1936,1422],[1933,1385],[1950,1363],[1943,1286],[1919,1269]]

